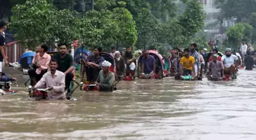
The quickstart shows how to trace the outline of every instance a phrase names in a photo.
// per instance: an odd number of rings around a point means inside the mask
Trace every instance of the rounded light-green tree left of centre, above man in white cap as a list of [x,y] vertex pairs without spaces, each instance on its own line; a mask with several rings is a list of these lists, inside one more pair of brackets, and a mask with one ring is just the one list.
[[83,42],[89,47],[98,45],[105,49],[117,44],[133,47],[137,41],[137,31],[130,11],[122,7],[109,10],[110,1],[97,2],[95,8],[100,9],[88,11],[82,17],[80,34]]

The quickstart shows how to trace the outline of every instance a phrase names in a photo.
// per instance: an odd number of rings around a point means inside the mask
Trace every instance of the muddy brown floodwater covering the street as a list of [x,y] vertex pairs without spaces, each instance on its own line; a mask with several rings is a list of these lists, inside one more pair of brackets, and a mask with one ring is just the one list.
[[[230,82],[120,82],[78,101],[0,97],[0,139],[255,140],[256,71]],[[121,87],[122,86],[122,87]]]

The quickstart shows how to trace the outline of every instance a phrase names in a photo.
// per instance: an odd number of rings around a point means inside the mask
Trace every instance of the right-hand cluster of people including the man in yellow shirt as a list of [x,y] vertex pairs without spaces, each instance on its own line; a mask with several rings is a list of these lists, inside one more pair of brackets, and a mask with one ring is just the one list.
[[213,39],[211,39],[209,45],[210,52],[207,52],[207,48],[203,48],[200,54],[197,52],[197,44],[191,44],[190,49],[184,49],[183,54],[179,54],[178,57],[177,50],[171,51],[172,75],[175,75],[176,79],[186,75],[201,79],[202,74],[206,73],[208,79],[220,80],[236,79],[239,67],[252,70],[256,59],[254,59],[255,54],[251,45],[247,47],[246,43],[242,42],[239,51],[226,48],[223,55],[219,53],[219,47],[213,45]]

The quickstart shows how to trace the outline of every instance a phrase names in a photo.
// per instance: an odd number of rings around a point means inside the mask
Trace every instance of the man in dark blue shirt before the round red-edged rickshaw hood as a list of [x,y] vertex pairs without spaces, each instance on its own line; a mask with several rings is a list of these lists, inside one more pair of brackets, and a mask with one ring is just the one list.
[[149,55],[149,51],[142,51],[142,75],[147,75],[151,78],[155,76],[155,58]]

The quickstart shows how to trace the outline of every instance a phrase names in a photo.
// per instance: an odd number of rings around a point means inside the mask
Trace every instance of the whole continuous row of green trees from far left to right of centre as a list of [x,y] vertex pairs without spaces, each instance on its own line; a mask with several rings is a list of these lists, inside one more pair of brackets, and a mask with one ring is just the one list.
[[[57,8],[53,6],[56,2]],[[64,8],[59,5],[72,9],[74,2],[27,0],[14,7],[11,29],[30,48],[42,42],[71,43],[79,39],[89,48],[136,45],[165,52],[168,45],[187,45],[203,28],[203,8],[198,0],[184,0],[184,11],[177,17],[174,0],[94,0],[94,10],[80,17],[76,12],[58,10]]]

